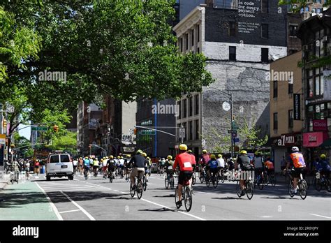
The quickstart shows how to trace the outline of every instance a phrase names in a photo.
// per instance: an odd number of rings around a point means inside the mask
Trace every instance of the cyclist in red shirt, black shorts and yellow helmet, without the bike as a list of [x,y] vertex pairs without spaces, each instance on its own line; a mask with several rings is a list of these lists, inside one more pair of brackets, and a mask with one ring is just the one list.
[[[179,154],[175,158],[173,168],[176,169],[179,166],[178,176],[178,202],[176,205],[182,206],[182,186],[185,180],[189,180],[193,174],[192,168],[192,157],[191,154],[186,153],[187,146],[182,144],[179,145]],[[191,183],[190,183],[191,184]],[[191,186],[191,185],[190,185]]]

